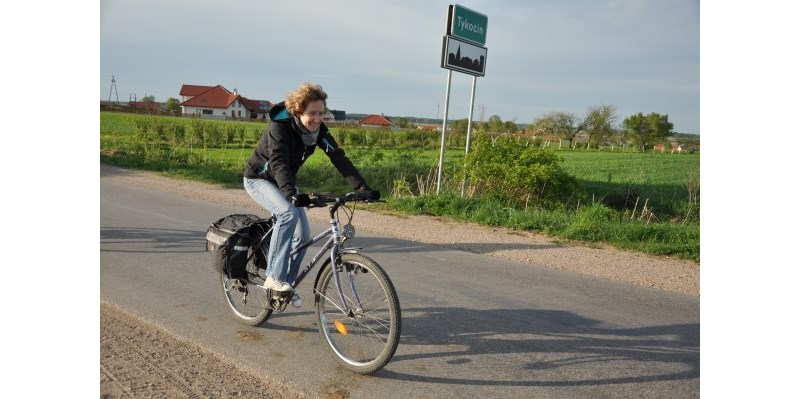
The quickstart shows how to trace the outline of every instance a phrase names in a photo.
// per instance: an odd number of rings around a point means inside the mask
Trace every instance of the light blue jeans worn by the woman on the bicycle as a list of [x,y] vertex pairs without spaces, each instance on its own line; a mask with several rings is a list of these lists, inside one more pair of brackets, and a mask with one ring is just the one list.
[[244,178],[244,189],[259,205],[275,216],[275,227],[267,255],[267,275],[294,285],[306,250],[291,252],[311,238],[305,208],[286,200],[283,191],[268,180]]

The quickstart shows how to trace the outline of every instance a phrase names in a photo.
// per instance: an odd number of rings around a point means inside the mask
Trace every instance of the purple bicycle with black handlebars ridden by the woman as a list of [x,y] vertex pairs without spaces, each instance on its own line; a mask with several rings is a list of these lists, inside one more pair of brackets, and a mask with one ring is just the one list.
[[[294,256],[322,239],[328,240],[301,268],[292,288],[305,279],[323,258],[314,281],[314,308],[319,331],[344,367],[358,374],[372,374],[383,368],[400,341],[400,302],[389,276],[361,248],[348,248],[343,243],[355,235],[351,224],[356,201],[371,202],[365,196],[311,194],[308,208],[328,206],[330,227],[300,244]],[[347,216],[342,227],[339,211]],[[291,301],[291,293],[273,293],[262,287],[266,276],[266,259],[274,217],[256,223],[253,245],[248,249],[247,277],[232,279],[221,273],[222,293],[236,318],[248,325],[265,322],[273,311],[282,312]],[[251,232],[252,233],[252,232]],[[323,255],[329,253],[330,256]]]

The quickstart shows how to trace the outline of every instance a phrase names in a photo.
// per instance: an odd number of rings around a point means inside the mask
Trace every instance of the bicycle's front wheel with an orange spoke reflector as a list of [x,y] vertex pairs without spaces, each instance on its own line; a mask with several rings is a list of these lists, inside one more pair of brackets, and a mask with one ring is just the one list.
[[391,280],[374,260],[343,254],[336,265],[329,263],[322,271],[314,294],[320,332],[345,367],[372,374],[389,362],[400,342],[400,302]]

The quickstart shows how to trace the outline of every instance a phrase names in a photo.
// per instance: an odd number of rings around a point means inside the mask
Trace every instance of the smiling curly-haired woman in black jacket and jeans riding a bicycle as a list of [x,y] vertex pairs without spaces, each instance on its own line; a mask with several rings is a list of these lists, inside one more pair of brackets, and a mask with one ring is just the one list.
[[[288,295],[293,290],[305,249],[294,257],[290,254],[311,237],[304,209],[310,199],[308,194],[298,192],[297,172],[317,147],[325,152],[351,187],[368,193],[373,200],[380,198],[380,192],[367,186],[358,169],[322,123],[327,98],[322,87],[312,83],[302,83],[289,92],[285,102],[276,104],[269,111],[272,123],[261,135],[245,167],[245,191],[275,216],[264,288],[278,293]],[[302,305],[296,292],[292,296],[292,305]]]

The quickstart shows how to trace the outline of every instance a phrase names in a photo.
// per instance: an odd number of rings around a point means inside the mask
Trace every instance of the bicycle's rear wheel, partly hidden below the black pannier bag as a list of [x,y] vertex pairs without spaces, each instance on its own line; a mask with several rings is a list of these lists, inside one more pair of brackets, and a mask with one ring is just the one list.
[[245,282],[242,288],[233,287],[232,279],[225,273],[220,274],[222,296],[225,298],[225,303],[228,304],[228,308],[238,321],[249,326],[260,325],[267,321],[272,314],[267,292],[264,289],[255,287],[264,282],[263,278],[258,275],[258,267],[254,263],[255,259],[255,257],[250,257],[250,261],[247,262],[248,278],[240,280]]

